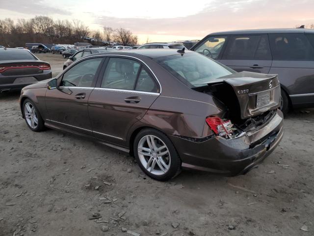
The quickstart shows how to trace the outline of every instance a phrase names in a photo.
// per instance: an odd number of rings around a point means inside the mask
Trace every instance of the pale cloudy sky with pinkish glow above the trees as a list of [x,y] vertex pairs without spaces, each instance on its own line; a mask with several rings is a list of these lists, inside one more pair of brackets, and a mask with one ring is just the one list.
[[214,31],[314,23],[314,0],[0,0],[0,19],[48,15],[90,29],[130,29],[140,43],[201,39]]

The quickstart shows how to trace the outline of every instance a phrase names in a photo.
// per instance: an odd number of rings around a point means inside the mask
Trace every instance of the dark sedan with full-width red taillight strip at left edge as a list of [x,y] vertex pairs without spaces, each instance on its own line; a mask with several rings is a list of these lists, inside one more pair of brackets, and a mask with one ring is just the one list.
[[19,90],[50,78],[50,64],[39,60],[28,50],[0,49],[0,92]]

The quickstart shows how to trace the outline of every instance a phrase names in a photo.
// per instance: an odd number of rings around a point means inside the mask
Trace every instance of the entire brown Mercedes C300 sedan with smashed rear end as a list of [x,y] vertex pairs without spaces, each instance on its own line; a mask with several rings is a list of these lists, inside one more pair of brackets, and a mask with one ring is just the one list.
[[129,152],[157,180],[181,168],[248,172],[282,139],[279,103],[276,75],[236,73],[184,49],[94,54],[20,97],[31,130],[47,126]]

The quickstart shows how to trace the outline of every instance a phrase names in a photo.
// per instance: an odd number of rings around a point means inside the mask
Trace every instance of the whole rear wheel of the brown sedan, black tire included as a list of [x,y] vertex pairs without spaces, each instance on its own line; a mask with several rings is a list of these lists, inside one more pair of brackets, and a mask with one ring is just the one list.
[[[150,144],[147,142],[147,139],[150,141]],[[155,145],[153,145],[152,139]],[[156,148],[157,151],[155,151]],[[161,149],[158,150],[158,148]],[[149,152],[148,150],[151,149],[153,151]],[[165,134],[155,129],[140,131],[135,137],[133,150],[140,168],[151,178],[158,181],[166,181],[181,172],[182,162],[176,148]],[[150,155],[148,155],[149,153]],[[158,154],[161,153],[166,154],[159,156]]]

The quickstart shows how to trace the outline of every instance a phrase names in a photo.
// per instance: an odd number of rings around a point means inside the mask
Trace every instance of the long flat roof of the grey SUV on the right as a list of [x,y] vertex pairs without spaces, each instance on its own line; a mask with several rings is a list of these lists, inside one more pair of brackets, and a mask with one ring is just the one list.
[[314,29],[242,29],[210,33],[209,35],[245,34],[245,33],[314,33]]

